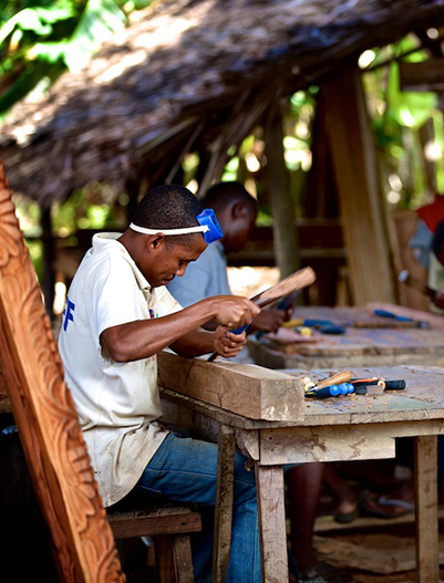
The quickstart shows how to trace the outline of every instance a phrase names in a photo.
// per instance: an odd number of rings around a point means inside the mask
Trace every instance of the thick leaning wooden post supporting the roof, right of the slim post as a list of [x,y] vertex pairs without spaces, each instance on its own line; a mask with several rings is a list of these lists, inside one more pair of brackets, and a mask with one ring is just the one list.
[[354,303],[384,298],[395,303],[395,273],[385,204],[381,195],[373,136],[358,65],[322,85],[330,152],[343,219]]

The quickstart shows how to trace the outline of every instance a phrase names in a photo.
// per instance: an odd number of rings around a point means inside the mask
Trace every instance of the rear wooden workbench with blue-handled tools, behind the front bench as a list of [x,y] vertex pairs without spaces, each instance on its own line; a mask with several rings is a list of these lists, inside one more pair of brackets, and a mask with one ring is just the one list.
[[[413,317],[412,323],[395,322],[374,315],[383,308]],[[291,343],[291,339],[251,336],[248,350],[252,360],[269,368],[328,368],[332,366],[397,366],[420,364],[444,366],[444,317],[428,312],[391,304],[365,308],[298,308],[297,319],[331,321],[344,326],[339,335],[313,332],[311,337]],[[425,322],[427,329],[412,327]]]

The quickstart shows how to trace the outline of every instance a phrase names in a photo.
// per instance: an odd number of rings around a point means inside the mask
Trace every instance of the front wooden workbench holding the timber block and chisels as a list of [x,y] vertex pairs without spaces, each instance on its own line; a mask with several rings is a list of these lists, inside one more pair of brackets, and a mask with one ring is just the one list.
[[[311,371],[310,376],[323,378],[333,372]],[[213,440],[220,427],[231,428],[239,449],[252,459],[266,583],[288,582],[283,465],[392,458],[400,437],[415,440],[416,581],[438,581],[436,436],[444,434],[444,369],[400,366],[352,373],[404,378],[407,387],[373,397],[306,399],[299,423],[250,419],[171,389],[163,392],[167,421]],[[220,449],[219,455],[224,456]]]

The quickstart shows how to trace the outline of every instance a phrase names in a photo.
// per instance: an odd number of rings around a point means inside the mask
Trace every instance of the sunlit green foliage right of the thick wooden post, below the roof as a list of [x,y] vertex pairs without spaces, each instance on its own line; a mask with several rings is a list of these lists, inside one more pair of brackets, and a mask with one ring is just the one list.
[[[425,204],[434,189],[425,174],[430,164],[426,140],[434,145],[435,153],[440,148],[444,152],[443,114],[435,93],[401,91],[396,60],[422,62],[427,54],[413,35],[373,52],[375,58],[370,71],[363,73],[363,82],[380,152],[384,192],[395,208],[414,209]],[[389,64],[380,66],[384,63]],[[442,191],[442,154],[433,160],[433,170]]]

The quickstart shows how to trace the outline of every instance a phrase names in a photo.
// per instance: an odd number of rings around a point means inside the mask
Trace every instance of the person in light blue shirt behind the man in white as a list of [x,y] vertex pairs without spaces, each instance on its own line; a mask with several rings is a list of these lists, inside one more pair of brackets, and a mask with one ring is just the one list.
[[[256,223],[258,205],[240,183],[228,181],[213,185],[202,199],[205,207],[215,211],[223,230],[221,239],[209,244],[199,259],[188,266],[184,277],[168,283],[168,291],[184,308],[204,298],[230,294],[227,277],[227,254],[241,251]],[[291,316],[287,311],[262,310],[247,329],[247,334],[259,330],[276,332]],[[208,322],[206,329],[214,329]]]

